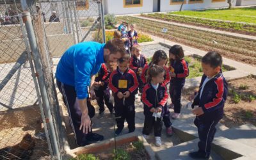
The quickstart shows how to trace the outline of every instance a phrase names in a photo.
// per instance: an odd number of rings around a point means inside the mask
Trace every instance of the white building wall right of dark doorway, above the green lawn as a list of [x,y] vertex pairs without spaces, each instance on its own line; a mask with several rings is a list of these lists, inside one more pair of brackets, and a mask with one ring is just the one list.
[[[256,0],[254,0],[256,1]],[[166,11],[177,11],[180,9],[181,4],[171,5],[170,0],[161,1],[161,12]],[[232,1],[232,6],[236,6],[236,0]],[[219,8],[219,7],[228,7],[227,0],[225,2],[215,2],[212,3],[212,0],[204,0],[204,3],[195,3],[189,4],[189,0],[186,1],[186,4],[183,4],[182,10],[197,10],[204,8]]]

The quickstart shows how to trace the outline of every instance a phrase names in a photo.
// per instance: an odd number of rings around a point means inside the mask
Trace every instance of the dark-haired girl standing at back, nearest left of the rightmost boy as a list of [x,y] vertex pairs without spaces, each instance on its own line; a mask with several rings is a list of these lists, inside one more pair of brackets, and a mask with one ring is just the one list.
[[180,117],[180,97],[185,79],[189,75],[188,63],[184,60],[184,52],[180,45],[173,45],[169,50],[170,58],[170,97],[172,100],[174,113],[173,119]]

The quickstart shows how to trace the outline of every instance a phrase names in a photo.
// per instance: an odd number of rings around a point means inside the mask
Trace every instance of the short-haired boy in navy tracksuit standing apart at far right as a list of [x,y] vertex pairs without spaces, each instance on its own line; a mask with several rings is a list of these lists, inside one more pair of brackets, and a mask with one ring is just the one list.
[[218,52],[208,52],[202,58],[204,75],[192,104],[192,112],[196,115],[194,124],[198,128],[199,150],[189,153],[189,156],[195,159],[209,159],[215,126],[223,117],[228,88],[221,65],[222,58]]

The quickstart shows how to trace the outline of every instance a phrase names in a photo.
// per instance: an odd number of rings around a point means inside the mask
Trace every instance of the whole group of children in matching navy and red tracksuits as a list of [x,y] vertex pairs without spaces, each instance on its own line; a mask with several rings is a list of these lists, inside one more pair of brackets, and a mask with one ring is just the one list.
[[[121,28],[122,29],[122,28]],[[134,29],[134,28],[133,28]],[[118,32],[115,32],[115,34]],[[131,35],[131,31],[129,33]],[[129,36],[130,36],[129,35]],[[131,38],[137,33],[132,31]],[[137,35],[138,36],[138,35]],[[120,37],[119,37],[120,38]],[[138,37],[137,37],[138,38]],[[125,39],[127,40],[127,39]],[[129,42],[130,43],[130,42]],[[169,108],[174,109],[173,119],[180,116],[180,97],[186,77],[189,75],[188,63],[184,60],[184,51],[180,45],[173,45],[169,50],[169,63],[166,52],[154,52],[152,61],[141,54],[138,43],[131,43],[131,56],[127,54],[120,58],[117,67],[114,63],[102,65],[97,79],[95,79],[95,93],[99,104],[99,115],[104,113],[104,103],[110,113],[115,110],[117,129],[116,136],[124,129],[127,121],[129,132],[135,130],[135,99],[141,93],[143,113],[145,115],[143,137],[154,128],[156,146],[161,146],[161,132],[164,123],[166,134],[172,135],[171,114]],[[227,83],[221,72],[222,58],[217,52],[208,52],[202,58],[204,76],[200,90],[196,93],[192,104],[193,113],[196,115],[195,125],[198,127],[199,150],[189,156],[193,158],[209,158],[211,142],[216,132],[215,126],[223,116],[223,106],[227,98]],[[170,99],[172,104],[167,106],[168,90],[170,84]],[[114,97],[114,106],[109,102],[109,89]]]

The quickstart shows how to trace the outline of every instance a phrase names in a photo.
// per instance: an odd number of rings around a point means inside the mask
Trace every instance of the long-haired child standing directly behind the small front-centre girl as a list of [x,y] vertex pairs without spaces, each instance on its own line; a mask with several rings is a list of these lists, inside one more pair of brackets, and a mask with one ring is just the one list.
[[[168,68],[165,66],[167,61],[168,61],[168,56],[167,56],[166,52],[164,52],[163,50],[156,51],[152,57],[152,61],[150,62],[150,64],[146,65],[143,68],[142,73],[141,73],[141,81],[143,81],[143,83],[146,84],[147,83],[146,77],[147,77],[148,67],[150,67],[151,65],[158,65],[160,67],[163,67],[164,70],[166,71],[165,75],[164,75],[164,81],[163,81],[163,84],[166,86],[170,82],[170,75],[168,72]],[[171,123],[170,115],[171,115],[171,113],[170,113],[168,107],[164,106],[163,122],[166,127],[166,134],[168,136],[172,136],[172,127],[171,127],[172,123]]]

